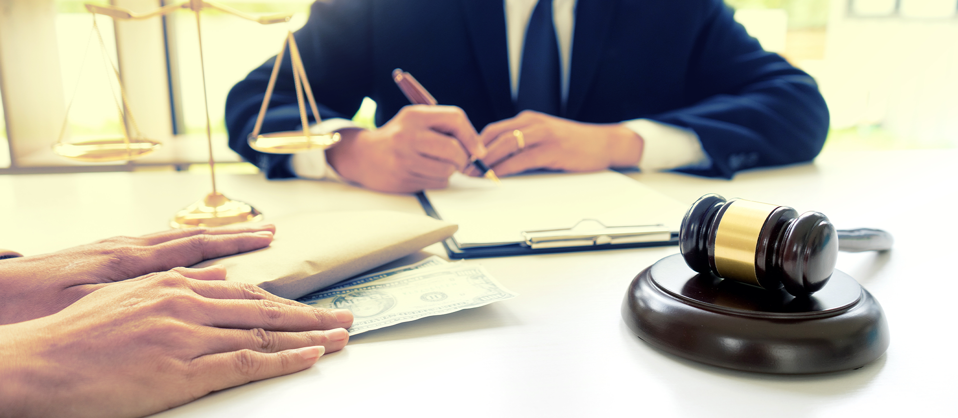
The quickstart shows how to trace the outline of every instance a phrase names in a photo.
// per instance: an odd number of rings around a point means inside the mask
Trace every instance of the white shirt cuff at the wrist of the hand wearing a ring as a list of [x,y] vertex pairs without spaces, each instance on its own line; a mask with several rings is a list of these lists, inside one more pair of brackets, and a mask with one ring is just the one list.
[[712,165],[692,129],[648,119],[624,121],[623,124],[642,137],[642,157],[639,159],[639,169],[642,171]]

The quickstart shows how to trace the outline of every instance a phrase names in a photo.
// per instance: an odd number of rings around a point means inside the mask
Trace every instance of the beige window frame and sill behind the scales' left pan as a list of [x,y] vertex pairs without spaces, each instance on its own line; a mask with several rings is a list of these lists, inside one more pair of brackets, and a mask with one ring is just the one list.
[[[57,156],[65,118],[63,85],[57,45],[55,0],[7,0],[0,13],[0,91],[10,148],[10,167],[0,174],[129,171],[138,166],[173,165],[183,168],[209,162],[205,136],[178,135],[182,121],[175,54],[165,17],[145,20],[114,19],[117,62],[129,106],[140,130],[163,143],[156,152],[132,162],[84,164]],[[162,0],[112,0],[131,11],[148,11]],[[186,11],[183,11],[186,12]],[[19,59],[31,56],[29,61]],[[128,117],[127,121],[128,123]],[[225,141],[214,138],[217,163],[241,162]]]

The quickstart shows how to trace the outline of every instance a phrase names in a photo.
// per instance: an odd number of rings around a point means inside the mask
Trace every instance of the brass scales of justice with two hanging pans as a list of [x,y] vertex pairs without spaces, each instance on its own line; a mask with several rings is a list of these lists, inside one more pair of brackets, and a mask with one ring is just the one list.
[[[87,11],[95,14],[103,14],[114,19],[124,20],[142,20],[154,16],[169,14],[180,9],[189,9],[194,11],[196,16],[196,38],[199,44],[199,62],[200,73],[203,82],[203,101],[206,110],[206,140],[209,149],[209,165],[213,191],[204,198],[182,209],[173,216],[170,221],[172,228],[191,228],[191,227],[217,227],[229,225],[238,222],[256,222],[261,221],[262,213],[252,206],[227,198],[217,191],[216,166],[213,160],[213,135],[210,127],[210,109],[207,99],[206,88],[206,69],[203,63],[203,38],[200,32],[199,12],[204,8],[215,9],[229,14],[242,17],[247,20],[269,25],[273,23],[288,22],[292,14],[273,14],[266,16],[253,16],[241,11],[234,10],[227,6],[217,3],[205,2],[202,0],[188,0],[181,3],[171,4],[154,11],[136,13],[123,8],[107,5],[84,5]],[[72,160],[86,163],[111,163],[117,161],[132,161],[148,155],[161,146],[161,143],[150,140],[140,132],[135,118],[129,108],[129,100],[126,99],[126,93],[123,81],[120,78],[120,72],[115,64],[106,54],[106,47],[103,43],[103,34],[97,26],[97,20],[93,19],[93,32],[95,32],[100,41],[100,47],[103,52],[103,59],[109,61],[107,72],[116,78],[120,86],[120,98],[114,92],[112,97],[116,102],[117,112],[120,115],[121,126],[123,127],[120,136],[100,136],[93,139],[83,139],[78,141],[65,141],[65,133],[69,123],[69,111],[73,104],[73,99],[67,105],[66,116],[57,143],[53,145],[54,153]],[[296,86],[296,99],[299,104],[300,119],[303,123],[302,131],[285,131],[260,134],[262,121],[269,106],[269,100],[272,97],[273,89],[276,85],[276,79],[279,76],[280,65],[283,62],[286,46],[289,47],[289,58],[292,64],[293,80]],[[84,55],[85,59],[85,55]],[[82,67],[82,65],[80,65]],[[80,68],[82,74],[82,68]],[[110,83],[112,89],[113,84]],[[76,95],[76,93],[75,93]],[[309,123],[307,118],[306,103],[304,96],[308,99],[313,119],[316,122],[322,121],[319,117],[319,108],[316,106],[316,100],[313,98],[312,89],[306,76],[306,70],[303,66],[303,60],[299,54],[299,48],[296,46],[296,40],[293,33],[288,31],[280,47],[280,53],[276,56],[273,65],[272,74],[269,77],[269,83],[266,88],[265,96],[262,99],[260,113],[257,116],[256,125],[253,133],[249,135],[249,145],[258,151],[272,154],[292,154],[311,150],[320,150],[329,148],[338,143],[340,136],[338,133],[314,135],[309,132]]]

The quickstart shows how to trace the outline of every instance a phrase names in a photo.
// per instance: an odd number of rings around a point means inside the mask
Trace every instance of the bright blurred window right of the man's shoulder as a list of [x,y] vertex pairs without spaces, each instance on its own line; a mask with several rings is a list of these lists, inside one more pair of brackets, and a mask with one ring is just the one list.
[[958,0],[726,2],[765,49],[818,81],[827,148],[958,146]]

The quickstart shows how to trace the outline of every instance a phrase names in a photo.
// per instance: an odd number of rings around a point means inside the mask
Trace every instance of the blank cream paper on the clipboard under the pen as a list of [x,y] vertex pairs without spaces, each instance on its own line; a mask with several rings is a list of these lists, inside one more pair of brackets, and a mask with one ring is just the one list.
[[569,229],[593,219],[605,227],[664,225],[678,231],[688,205],[614,171],[525,174],[495,185],[453,174],[426,190],[439,217],[459,224],[460,248],[516,244],[523,231]]

